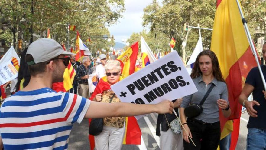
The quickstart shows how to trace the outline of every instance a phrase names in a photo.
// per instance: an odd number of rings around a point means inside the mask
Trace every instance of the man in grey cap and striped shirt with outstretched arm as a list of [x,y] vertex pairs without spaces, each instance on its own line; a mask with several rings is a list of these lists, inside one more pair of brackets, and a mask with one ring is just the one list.
[[63,82],[69,63],[59,43],[42,38],[28,47],[25,61],[31,79],[21,91],[6,98],[0,111],[0,147],[5,149],[67,149],[75,122],[83,118],[171,113],[173,102],[141,105],[94,102],[73,93],[55,92],[53,82]]

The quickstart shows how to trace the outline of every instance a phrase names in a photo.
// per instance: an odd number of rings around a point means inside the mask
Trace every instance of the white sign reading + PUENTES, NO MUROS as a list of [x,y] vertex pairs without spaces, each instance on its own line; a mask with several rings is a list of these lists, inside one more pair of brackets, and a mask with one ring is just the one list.
[[136,104],[157,104],[198,91],[176,51],[117,82],[111,88],[122,102]]

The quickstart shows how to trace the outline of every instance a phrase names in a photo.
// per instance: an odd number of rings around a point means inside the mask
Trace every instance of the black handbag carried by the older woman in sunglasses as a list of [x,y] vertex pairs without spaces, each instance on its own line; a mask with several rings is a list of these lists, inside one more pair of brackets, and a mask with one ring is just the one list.
[[[115,94],[110,99],[110,102],[112,102],[113,98],[115,97]],[[103,129],[103,118],[95,118],[92,119],[89,124],[89,134],[96,136],[99,135],[102,132]]]

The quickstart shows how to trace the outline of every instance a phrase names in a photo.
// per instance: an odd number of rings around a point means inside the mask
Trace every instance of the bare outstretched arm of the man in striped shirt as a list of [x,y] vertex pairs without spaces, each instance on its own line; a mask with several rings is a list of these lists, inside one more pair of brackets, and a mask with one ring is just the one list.
[[103,103],[91,101],[84,118],[137,116],[156,112],[172,114],[174,104],[163,101],[158,104]]

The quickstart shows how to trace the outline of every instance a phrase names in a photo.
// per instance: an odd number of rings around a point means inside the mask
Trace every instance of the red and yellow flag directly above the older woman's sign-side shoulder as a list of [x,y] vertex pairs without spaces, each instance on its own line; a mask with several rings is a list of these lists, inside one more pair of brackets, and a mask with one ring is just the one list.
[[121,63],[122,76],[127,77],[135,72],[136,61],[138,58],[138,42],[131,45],[117,60]]

